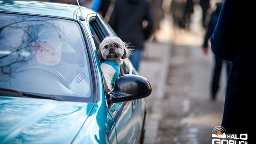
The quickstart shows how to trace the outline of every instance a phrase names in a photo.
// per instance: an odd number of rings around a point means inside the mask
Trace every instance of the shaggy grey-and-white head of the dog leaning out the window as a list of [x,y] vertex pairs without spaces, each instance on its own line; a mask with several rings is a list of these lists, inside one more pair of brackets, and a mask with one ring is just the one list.
[[123,63],[122,59],[130,56],[130,51],[128,45],[123,42],[117,36],[107,36],[99,45],[99,50],[97,52],[100,62],[104,60],[112,60],[117,64]]

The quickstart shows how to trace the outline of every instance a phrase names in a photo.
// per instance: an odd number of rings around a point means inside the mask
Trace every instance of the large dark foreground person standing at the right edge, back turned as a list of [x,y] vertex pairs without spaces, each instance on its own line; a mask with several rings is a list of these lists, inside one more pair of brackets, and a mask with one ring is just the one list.
[[[232,61],[226,89],[222,127],[227,134],[247,134],[247,144],[256,144],[255,118],[255,31],[247,16],[253,6],[240,0],[225,0],[211,36],[211,49],[222,59]],[[243,9],[243,10],[241,10]],[[252,20],[252,19],[251,19]],[[245,138],[245,136],[243,136]],[[239,140],[240,141],[240,140]]]

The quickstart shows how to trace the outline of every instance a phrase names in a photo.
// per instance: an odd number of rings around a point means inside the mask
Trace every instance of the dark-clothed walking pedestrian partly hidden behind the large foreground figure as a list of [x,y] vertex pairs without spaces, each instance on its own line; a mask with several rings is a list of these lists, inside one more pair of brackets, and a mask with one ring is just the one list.
[[[210,39],[210,36],[213,34],[214,28],[218,22],[219,18],[219,12],[222,6],[221,2],[216,3],[216,9],[213,11],[210,15],[210,21],[207,26],[207,31],[205,33],[204,37],[204,43],[202,46],[202,52],[203,54],[207,55],[208,54],[208,40]],[[212,75],[212,82],[211,82],[211,98],[212,100],[216,99],[216,94],[217,91],[219,90],[219,77],[220,77],[220,72],[221,72],[221,67],[222,67],[222,59],[219,58],[218,56],[214,56],[214,71]],[[232,63],[230,61],[226,61],[226,66],[227,66],[227,76],[229,76],[229,71],[231,69]]]

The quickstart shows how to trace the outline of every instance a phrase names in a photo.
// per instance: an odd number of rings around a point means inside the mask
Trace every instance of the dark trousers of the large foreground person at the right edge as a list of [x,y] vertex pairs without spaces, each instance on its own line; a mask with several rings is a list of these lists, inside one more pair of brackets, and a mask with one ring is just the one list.
[[227,134],[248,134],[247,144],[256,144],[254,64],[254,60],[232,64],[221,125]]

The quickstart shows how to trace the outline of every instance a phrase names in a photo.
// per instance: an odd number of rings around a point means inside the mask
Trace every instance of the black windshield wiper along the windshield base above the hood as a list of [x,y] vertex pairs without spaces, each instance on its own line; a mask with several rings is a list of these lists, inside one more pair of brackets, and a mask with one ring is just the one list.
[[38,93],[28,93],[22,92],[18,90],[9,90],[0,88],[0,96],[8,96],[8,97],[29,97],[29,98],[37,98],[37,99],[54,99],[58,101],[63,101],[62,99],[58,99],[53,95],[46,94],[38,94]]

